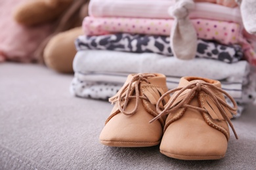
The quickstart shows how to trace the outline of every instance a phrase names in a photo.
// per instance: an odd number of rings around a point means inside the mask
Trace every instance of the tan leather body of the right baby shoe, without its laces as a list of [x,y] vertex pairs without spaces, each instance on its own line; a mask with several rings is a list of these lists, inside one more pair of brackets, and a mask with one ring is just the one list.
[[[207,82],[221,88],[219,81],[199,77],[183,77],[179,87],[182,88],[194,82]],[[210,87],[209,90],[225,102],[223,93]],[[177,105],[184,99],[189,91],[190,89],[187,89],[182,92],[173,105]],[[177,93],[179,91],[173,93],[168,103]],[[181,160],[217,160],[223,158],[230,137],[228,123],[207,93],[198,90],[190,96],[189,100],[188,105],[200,107],[207,112],[180,107],[175,112],[168,114],[160,152],[171,158]],[[222,104],[221,107],[228,118],[232,118],[232,114],[235,114]]]

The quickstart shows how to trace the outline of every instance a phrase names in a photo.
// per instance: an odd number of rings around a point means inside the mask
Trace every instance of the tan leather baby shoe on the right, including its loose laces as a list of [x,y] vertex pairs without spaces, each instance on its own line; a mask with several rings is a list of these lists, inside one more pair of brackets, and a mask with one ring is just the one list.
[[[173,93],[175,92],[175,93]],[[161,96],[173,93],[158,117],[168,114],[160,152],[180,160],[217,160],[224,157],[230,133],[228,124],[236,114],[236,102],[221,90],[221,82],[207,78],[187,76],[181,78],[179,87]],[[229,97],[234,108],[226,104]],[[151,122],[154,122],[152,120]],[[236,138],[236,132],[234,131]]]

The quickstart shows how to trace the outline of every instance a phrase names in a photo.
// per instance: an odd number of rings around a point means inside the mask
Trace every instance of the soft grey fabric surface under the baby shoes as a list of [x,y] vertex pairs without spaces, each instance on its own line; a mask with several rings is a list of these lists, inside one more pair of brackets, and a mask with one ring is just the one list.
[[182,161],[150,148],[110,148],[98,135],[112,105],[70,95],[72,75],[0,64],[0,169],[255,169],[256,107],[233,120],[223,160]]

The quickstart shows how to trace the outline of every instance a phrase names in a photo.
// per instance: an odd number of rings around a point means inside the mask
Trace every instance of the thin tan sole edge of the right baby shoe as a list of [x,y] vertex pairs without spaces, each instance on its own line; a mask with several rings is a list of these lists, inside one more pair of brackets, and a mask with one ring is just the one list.
[[225,155],[188,156],[188,155],[181,155],[181,154],[172,154],[170,152],[165,152],[163,150],[160,150],[160,152],[165,156],[168,156],[170,158],[175,158],[178,160],[220,160],[225,156]]

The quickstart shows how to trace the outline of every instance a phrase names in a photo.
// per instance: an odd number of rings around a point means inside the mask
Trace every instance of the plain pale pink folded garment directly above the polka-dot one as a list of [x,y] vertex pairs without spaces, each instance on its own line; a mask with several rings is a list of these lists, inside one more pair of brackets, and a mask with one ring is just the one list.
[[[175,1],[162,0],[91,0],[89,15],[94,17],[130,17],[170,19],[168,8]],[[240,9],[224,7],[214,3],[196,3],[196,9],[190,12],[190,18],[204,18],[241,23]]]

